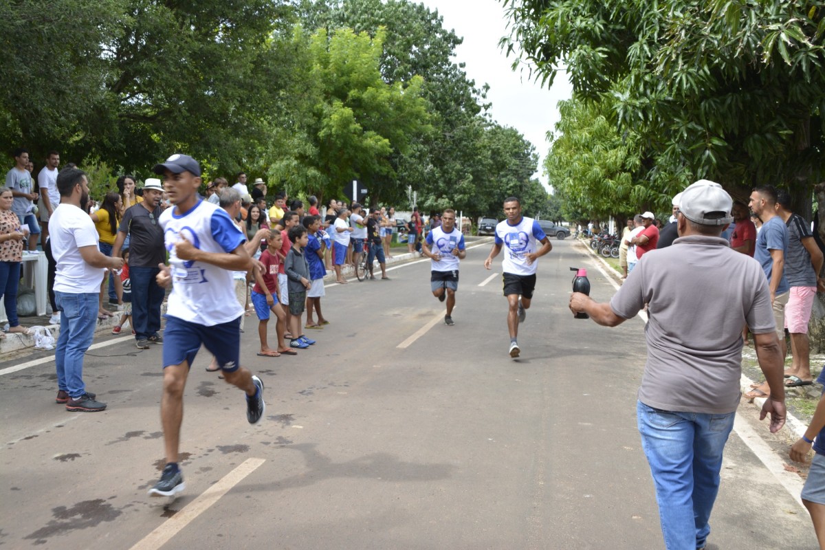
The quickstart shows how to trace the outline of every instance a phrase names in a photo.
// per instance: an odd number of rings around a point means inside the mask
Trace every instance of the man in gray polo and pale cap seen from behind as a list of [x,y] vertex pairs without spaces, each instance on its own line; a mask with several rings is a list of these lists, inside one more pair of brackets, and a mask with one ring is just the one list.
[[615,327],[648,304],[648,359],[637,421],[648,458],[667,548],[705,548],[719,491],[722,452],[738,407],[742,326],[771,385],[761,418],[785,424],[782,355],[771,293],[757,262],[719,237],[733,218],[719,184],[697,181],[681,196],[679,238],[648,254],[610,303],[570,298],[573,313]]

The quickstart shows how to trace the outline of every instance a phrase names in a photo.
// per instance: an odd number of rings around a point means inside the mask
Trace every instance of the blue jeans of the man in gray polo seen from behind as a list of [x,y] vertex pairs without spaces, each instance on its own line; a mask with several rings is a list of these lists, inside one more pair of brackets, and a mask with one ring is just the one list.
[[643,402],[637,402],[636,412],[665,548],[702,548],[719,492],[722,451],[736,413],[662,411]]

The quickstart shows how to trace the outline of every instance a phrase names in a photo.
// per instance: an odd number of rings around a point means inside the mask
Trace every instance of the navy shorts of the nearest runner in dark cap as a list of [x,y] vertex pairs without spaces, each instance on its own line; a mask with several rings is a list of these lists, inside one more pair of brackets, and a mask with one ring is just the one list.
[[238,370],[241,359],[241,317],[207,327],[178,317],[166,316],[163,331],[163,368],[186,361],[191,369],[200,346],[214,355],[219,369]]

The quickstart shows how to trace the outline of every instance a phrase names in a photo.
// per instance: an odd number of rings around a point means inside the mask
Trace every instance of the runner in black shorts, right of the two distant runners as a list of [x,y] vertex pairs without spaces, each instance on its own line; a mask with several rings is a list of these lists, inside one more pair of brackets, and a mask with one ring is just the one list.
[[[516,197],[507,197],[504,200],[504,214],[507,219],[496,226],[496,242],[493,250],[484,261],[484,267],[490,269],[493,258],[507,248],[502,261],[502,280],[504,295],[510,306],[507,312],[507,328],[510,329],[510,356],[518,357],[521,348],[518,346],[518,325],[524,322],[527,309],[530,309],[530,299],[535,289],[535,270],[538,268],[536,260],[553,250],[547,235],[541,230],[535,219],[521,215],[521,200]],[[536,249],[536,242],[541,247]]]

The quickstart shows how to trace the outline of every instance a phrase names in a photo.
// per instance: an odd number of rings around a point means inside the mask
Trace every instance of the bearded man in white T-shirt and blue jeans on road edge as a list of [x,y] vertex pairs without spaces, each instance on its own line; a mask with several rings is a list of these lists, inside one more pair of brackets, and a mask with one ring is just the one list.
[[60,336],[54,351],[57,366],[56,401],[67,411],[97,412],[106,403],[95,400],[83,383],[83,355],[92,345],[103,271],[119,270],[123,258],[105,256],[98,248],[97,229],[88,214],[86,172],[65,168],[57,176],[60,204],[51,215],[50,240],[57,272],[54,299],[60,310]]

